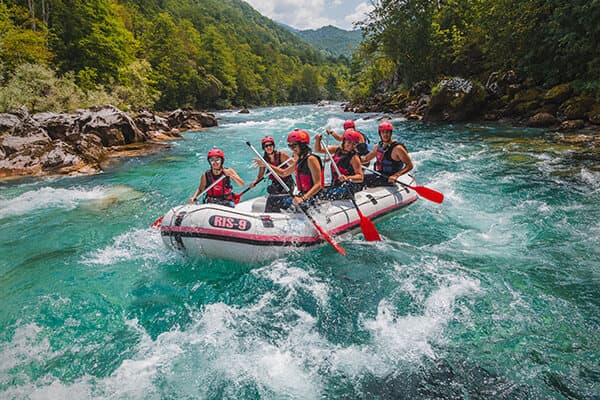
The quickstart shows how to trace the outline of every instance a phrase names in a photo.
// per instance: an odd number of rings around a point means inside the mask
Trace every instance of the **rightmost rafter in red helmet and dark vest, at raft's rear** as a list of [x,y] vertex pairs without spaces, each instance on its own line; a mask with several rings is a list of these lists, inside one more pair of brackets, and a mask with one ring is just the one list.
[[384,177],[376,174],[365,175],[366,186],[385,186],[393,184],[396,179],[413,169],[413,164],[404,144],[392,140],[394,127],[385,121],[379,124],[379,138],[381,141],[373,146],[373,150],[361,157],[361,162],[370,162],[377,157],[375,170]]

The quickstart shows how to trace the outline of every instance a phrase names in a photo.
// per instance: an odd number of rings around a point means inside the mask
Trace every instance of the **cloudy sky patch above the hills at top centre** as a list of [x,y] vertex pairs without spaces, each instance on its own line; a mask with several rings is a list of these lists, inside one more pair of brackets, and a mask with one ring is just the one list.
[[370,0],[246,0],[262,15],[293,28],[333,25],[352,30],[372,8]]

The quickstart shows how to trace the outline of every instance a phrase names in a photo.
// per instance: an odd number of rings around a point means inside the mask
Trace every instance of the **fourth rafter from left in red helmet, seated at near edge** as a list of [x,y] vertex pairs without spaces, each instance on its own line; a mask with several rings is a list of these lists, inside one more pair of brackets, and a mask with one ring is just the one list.
[[[323,135],[320,133],[316,136],[315,151],[318,153],[325,153],[325,148],[321,142],[322,137]],[[339,146],[327,147],[332,157],[331,176],[333,178],[333,184],[325,194],[327,199],[347,199],[361,189],[363,172],[360,157],[356,151],[356,147],[360,143],[360,137],[360,133],[354,129],[347,129]],[[333,163],[337,165],[341,175],[338,175]]]

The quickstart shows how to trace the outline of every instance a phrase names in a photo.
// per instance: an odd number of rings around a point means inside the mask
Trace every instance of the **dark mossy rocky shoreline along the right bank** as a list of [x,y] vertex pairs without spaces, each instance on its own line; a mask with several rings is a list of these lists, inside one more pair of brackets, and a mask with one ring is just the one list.
[[392,90],[362,103],[348,103],[345,111],[386,112],[433,123],[503,121],[559,132],[600,131],[600,102],[578,93],[569,83],[550,89],[519,80],[512,71],[493,73],[486,83],[461,77],[435,85],[419,82],[410,90]]

